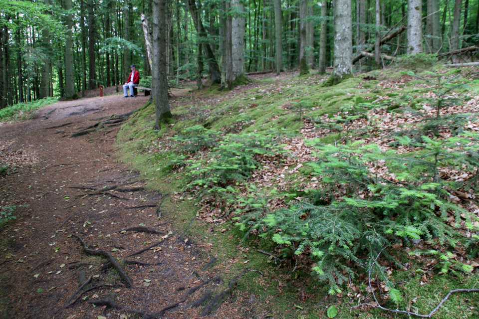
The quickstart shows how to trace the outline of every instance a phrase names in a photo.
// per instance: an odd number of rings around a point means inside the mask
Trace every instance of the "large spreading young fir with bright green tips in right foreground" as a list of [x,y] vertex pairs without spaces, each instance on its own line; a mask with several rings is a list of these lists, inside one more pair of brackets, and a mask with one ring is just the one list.
[[[398,138],[418,150],[409,156],[382,152],[363,141],[332,146],[314,140],[318,160],[310,165],[322,187],[310,192],[326,205],[301,202],[273,212],[263,219],[269,228],[261,236],[270,234],[277,244],[297,247],[296,254],[307,247],[317,260],[314,271],[329,282],[331,294],[340,291],[348,276],[354,277],[348,266],[354,261],[380,277],[391,299],[398,301],[399,292],[378,256],[396,263],[384,248],[399,240],[458,243],[458,231],[446,223],[449,216],[455,216],[456,226],[475,217],[449,201],[448,183],[439,178],[438,167],[460,164],[477,169],[477,139],[472,133],[443,141],[424,136],[420,143]],[[379,165],[388,171],[379,173]]]

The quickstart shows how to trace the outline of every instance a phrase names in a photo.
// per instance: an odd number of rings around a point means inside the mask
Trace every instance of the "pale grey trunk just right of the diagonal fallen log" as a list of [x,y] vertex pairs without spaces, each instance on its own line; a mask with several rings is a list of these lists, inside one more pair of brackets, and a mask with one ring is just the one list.
[[408,49],[407,54],[418,54],[423,51],[422,1],[408,0]]

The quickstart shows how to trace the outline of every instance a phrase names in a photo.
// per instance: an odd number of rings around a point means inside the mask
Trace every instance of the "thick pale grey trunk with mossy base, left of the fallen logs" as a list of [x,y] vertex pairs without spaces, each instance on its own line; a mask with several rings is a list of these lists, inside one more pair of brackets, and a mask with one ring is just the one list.
[[352,76],[353,25],[351,0],[336,0],[334,12],[334,58],[331,84]]

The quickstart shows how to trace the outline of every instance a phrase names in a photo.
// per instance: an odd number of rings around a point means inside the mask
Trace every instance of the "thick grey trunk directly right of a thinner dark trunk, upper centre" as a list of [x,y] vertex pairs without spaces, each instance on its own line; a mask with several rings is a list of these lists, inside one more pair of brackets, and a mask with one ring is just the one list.
[[[240,0],[232,0],[231,6],[235,7],[237,12],[244,12],[244,5]],[[228,17],[226,20],[228,23]],[[244,17],[234,15],[231,23],[233,80],[235,80],[237,77],[244,74]]]

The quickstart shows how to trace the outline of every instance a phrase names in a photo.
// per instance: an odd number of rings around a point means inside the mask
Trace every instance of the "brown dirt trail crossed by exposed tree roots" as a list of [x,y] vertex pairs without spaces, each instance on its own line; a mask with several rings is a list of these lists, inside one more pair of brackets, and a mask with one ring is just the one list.
[[[82,298],[109,298],[124,307],[158,312],[181,300],[185,291],[177,288],[188,290],[201,282],[195,275],[190,276],[193,270],[205,280],[214,277],[208,270],[200,271],[209,258],[202,257],[186,236],[179,236],[182,230],[156,250],[125,258],[165,237],[171,230],[168,218],[174,218],[174,212],[166,212],[167,216],[158,220],[157,207],[128,208],[157,204],[162,194],[142,190],[142,176],[112,156],[117,127],[69,138],[73,132],[95,123],[93,119],[135,110],[147,99],[113,95],[59,102],[42,108],[35,120],[0,127],[1,156],[20,157],[18,162],[25,164],[0,179],[1,198],[9,200],[1,205],[22,205],[15,213],[18,219],[0,234],[0,317],[80,319],[128,314],[110,307],[93,308],[82,299],[62,309],[90,276],[92,281],[85,289],[98,285],[118,287],[103,286]],[[58,127],[47,129],[54,126]],[[91,195],[121,184],[120,189]],[[138,225],[161,233],[118,232]],[[102,268],[107,259],[83,252],[80,242],[71,236],[74,234],[95,245],[91,248],[108,251],[114,258],[155,265],[125,263],[123,268],[133,282],[133,287],[127,288],[116,271]],[[82,264],[73,263],[77,261]],[[187,277],[190,278],[185,281]],[[219,284],[212,281],[209,289]],[[203,293],[198,290],[189,302]],[[221,312],[227,318],[240,318],[233,310],[229,314],[229,310]],[[180,312],[177,308],[160,317],[194,318],[197,314],[198,309]]]

